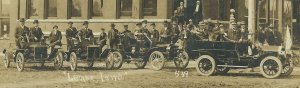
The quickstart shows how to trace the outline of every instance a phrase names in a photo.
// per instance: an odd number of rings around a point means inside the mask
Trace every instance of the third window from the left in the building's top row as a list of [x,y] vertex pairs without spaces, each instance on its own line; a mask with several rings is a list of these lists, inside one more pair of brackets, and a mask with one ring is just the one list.
[[84,3],[85,0],[70,0],[71,8],[70,16],[71,17],[82,17],[82,3]]

